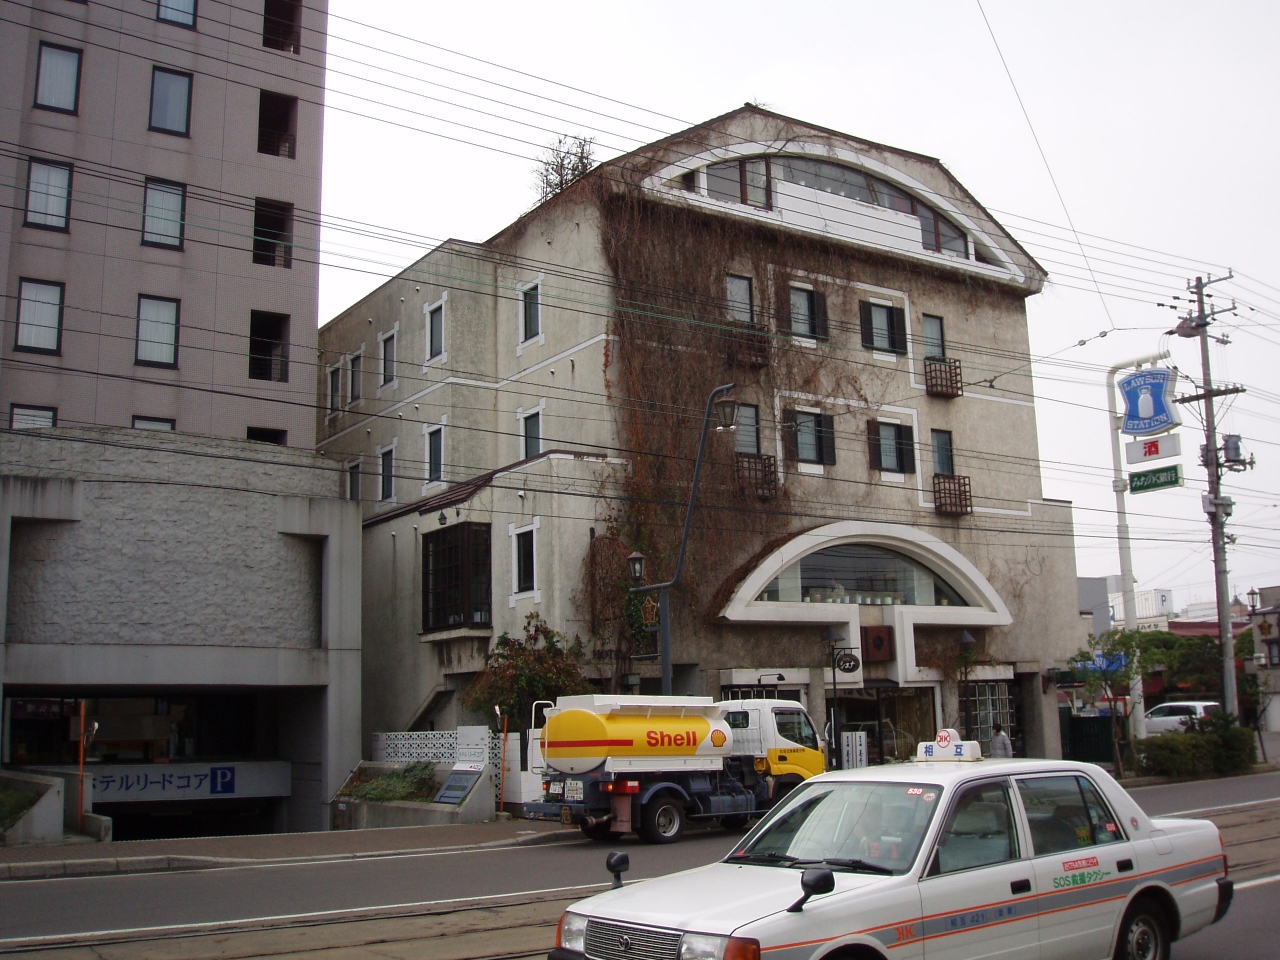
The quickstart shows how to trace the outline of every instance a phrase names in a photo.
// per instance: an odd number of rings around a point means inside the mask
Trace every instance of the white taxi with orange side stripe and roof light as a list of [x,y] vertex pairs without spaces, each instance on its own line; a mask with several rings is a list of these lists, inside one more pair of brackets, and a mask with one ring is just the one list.
[[548,960],[1167,960],[1230,902],[1212,823],[943,730],[806,781],[719,863],[575,904]]

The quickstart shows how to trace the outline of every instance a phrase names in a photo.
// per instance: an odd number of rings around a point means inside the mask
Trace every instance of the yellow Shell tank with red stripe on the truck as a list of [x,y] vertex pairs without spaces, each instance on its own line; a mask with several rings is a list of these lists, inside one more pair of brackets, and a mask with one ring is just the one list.
[[562,773],[723,767],[733,732],[710,698],[572,696],[548,710],[541,748]]

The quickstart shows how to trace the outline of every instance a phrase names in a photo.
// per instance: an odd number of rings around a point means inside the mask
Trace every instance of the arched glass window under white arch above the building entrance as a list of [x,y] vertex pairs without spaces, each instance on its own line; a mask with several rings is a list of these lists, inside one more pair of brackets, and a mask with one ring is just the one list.
[[870,544],[840,544],[801,557],[756,600],[968,607],[959,591],[923,563]]

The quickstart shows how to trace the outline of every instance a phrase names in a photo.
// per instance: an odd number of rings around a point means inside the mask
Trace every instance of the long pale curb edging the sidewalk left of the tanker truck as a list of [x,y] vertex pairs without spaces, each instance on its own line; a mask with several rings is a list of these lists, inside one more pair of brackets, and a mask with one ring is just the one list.
[[248,859],[234,856],[113,856],[83,860],[33,860],[29,863],[0,864],[0,881],[54,879],[58,877],[110,877],[125,873],[166,873],[175,870],[215,870],[233,867],[280,867],[298,863],[329,863],[337,860],[370,860],[389,856],[415,856],[421,854],[454,854],[467,850],[495,850],[512,846],[541,846],[581,840],[577,829],[557,829],[512,840],[489,840],[483,844],[457,846],[429,846],[401,850],[367,850],[353,854],[315,854],[311,856],[278,856]]

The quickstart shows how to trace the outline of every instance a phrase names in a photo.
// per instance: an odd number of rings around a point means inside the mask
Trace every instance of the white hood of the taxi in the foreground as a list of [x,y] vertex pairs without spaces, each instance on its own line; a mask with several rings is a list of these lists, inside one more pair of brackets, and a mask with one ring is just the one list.
[[[801,869],[713,863],[621,890],[568,908],[602,920],[728,936],[744,924],[786,910],[800,899]],[[867,873],[836,873],[836,892],[892,881]],[[814,897],[818,902],[823,897]]]

